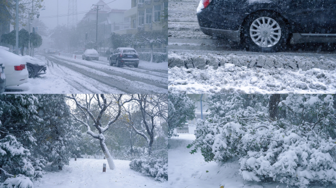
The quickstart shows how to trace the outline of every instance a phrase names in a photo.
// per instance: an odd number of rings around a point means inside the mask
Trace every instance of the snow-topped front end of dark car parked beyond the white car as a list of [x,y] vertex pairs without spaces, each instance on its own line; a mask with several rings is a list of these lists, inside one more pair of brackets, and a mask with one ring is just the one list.
[[46,63],[29,55],[25,55],[24,57],[26,58],[27,62],[27,70],[29,78],[47,73]]

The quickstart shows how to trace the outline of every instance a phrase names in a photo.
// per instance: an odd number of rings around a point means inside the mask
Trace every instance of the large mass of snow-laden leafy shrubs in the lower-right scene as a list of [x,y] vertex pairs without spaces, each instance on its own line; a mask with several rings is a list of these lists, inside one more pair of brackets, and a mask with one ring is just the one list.
[[279,119],[270,118],[261,103],[244,106],[249,101],[240,95],[213,101],[208,118],[197,121],[196,141],[189,145],[195,145],[192,153],[200,148],[205,161],[220,163],[239,158],[245,180],[299,188],[336,185],[332,95],[289,95],[279,103],[280,110],[286,109],[285,118]]

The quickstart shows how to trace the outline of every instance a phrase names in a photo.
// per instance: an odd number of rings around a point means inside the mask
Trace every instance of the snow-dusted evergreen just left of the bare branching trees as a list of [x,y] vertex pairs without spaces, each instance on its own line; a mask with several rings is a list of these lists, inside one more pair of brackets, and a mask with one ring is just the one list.
[[79,131],[72,123],[65,95],[40,94],[37,98],[41,120],[34,126],[37,146],[33,153],[62,169],[69,164],[71,151],[77,148],[75,142],[79,139]]

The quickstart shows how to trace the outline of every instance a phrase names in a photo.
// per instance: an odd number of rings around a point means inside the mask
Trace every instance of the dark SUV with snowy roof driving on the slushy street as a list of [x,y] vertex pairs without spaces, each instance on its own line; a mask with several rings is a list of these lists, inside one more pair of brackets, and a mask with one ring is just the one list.
[[120,67],[122,65],[139,66],[139,55],[134,48],[131,47],[119,47],[116,48],[110,56],[110,65]]

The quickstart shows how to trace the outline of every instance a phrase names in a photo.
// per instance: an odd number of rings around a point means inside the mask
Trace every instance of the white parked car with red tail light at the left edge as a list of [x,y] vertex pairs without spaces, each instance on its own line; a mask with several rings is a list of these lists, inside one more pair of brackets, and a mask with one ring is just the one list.
[[28,82],[26,58],[8,50],[9,48],[0,47],[0,61],[5,67],[6,87],[18,86]]

